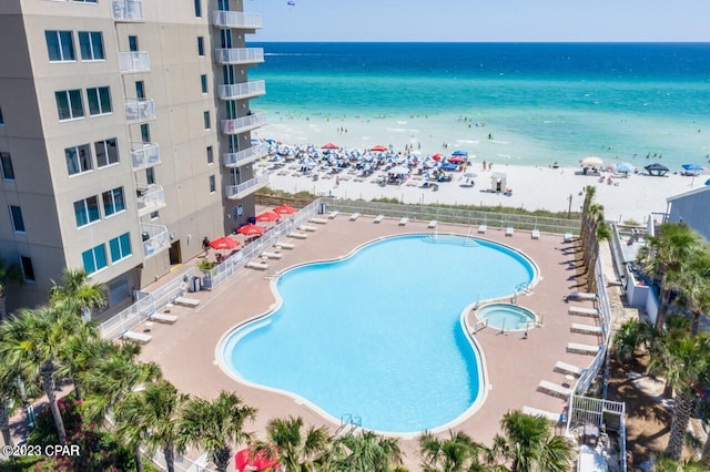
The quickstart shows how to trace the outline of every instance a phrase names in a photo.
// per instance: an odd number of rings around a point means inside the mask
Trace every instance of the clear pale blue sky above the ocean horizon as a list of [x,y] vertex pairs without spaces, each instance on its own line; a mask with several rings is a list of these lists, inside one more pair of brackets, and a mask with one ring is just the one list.
[[244,0],[251,41],[710,41],[710,0]]

